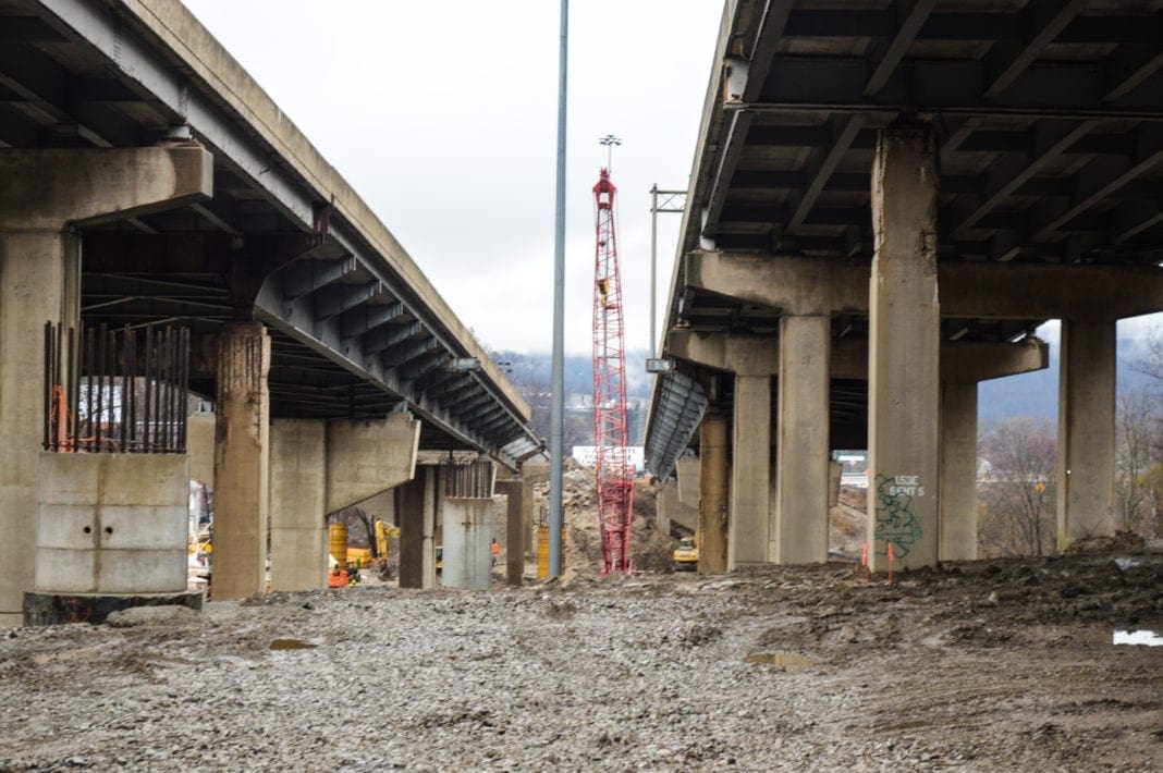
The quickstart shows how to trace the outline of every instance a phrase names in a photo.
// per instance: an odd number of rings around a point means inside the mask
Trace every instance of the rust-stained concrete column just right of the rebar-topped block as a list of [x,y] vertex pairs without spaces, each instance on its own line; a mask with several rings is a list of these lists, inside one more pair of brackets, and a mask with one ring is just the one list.
[[266,584],[270,367],[271,339],[261,323],[237,322],[219,336],[211,577],[217,601],[263,593]]

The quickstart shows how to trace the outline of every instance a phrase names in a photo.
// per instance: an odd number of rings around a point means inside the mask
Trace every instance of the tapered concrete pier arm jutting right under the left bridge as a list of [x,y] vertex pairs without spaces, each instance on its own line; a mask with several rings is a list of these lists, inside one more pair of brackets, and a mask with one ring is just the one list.
[[420,422],[411,414],[327,425],[327,513],[357,504],[415,474]]

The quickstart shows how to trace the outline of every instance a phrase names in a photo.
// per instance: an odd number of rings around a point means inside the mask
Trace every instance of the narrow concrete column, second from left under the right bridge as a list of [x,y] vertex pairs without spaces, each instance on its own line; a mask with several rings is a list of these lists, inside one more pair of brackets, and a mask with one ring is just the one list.
[[730,472],[728,571],[771,560],[770,375],[735,377]]

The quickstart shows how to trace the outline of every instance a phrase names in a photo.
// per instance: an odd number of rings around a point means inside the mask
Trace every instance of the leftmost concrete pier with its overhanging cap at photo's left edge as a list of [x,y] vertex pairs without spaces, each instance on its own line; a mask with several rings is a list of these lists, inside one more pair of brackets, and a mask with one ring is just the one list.
[[73,226],[208,196],[200,145],[0,150],[0,625],[33,589],[43,434],[44,323],[79,317]]

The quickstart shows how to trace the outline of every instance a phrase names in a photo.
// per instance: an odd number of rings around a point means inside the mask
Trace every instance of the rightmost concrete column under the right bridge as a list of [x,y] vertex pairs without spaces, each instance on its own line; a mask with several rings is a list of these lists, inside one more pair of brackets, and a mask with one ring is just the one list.
[[1062,321],[1058,375],[1058,550],[1113,535],[1114,322]]

